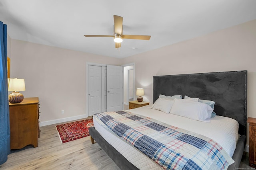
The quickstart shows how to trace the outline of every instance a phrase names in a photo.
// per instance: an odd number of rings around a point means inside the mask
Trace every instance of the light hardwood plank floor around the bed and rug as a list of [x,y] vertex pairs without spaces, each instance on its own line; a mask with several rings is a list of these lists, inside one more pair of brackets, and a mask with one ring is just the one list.
[[[120,170],[97,143],[91,144],[90,137],[62,144],[56,125],[40,127],[38,147],[12,150],[0,170]],[[240,168],[252,169],[248,164],[244,152]]]

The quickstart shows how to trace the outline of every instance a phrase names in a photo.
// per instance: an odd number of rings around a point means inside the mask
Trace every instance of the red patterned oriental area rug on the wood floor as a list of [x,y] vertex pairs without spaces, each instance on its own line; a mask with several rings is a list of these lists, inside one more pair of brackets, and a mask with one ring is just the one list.
[[65,143],[89,136],[89,128],[93,126],[94,125],[91,118],[57,125],[56,129],[59,133],[61,143]]

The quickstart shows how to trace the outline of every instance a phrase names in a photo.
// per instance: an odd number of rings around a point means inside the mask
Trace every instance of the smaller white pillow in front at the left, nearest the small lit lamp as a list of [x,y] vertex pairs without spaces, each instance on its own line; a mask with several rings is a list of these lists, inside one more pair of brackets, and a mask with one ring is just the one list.
[[163,111],[164,113],[169,113],[173,104],[174,100],[168,98],[158,98],[151,108]]

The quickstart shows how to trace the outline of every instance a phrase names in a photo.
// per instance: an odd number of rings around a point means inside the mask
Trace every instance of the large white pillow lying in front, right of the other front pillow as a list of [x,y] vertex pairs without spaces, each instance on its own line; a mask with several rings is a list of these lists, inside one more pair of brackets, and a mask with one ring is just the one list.
[[170,113],[198,121],[210,122],[212,111],[212,107],[204,103],[174,99]]

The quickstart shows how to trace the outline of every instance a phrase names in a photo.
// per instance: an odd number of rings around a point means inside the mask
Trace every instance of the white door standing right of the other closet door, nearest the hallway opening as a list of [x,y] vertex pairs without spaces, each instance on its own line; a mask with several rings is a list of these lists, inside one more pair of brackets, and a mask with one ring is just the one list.
[[123,67],[107,65],[107,111],[123,108]]

